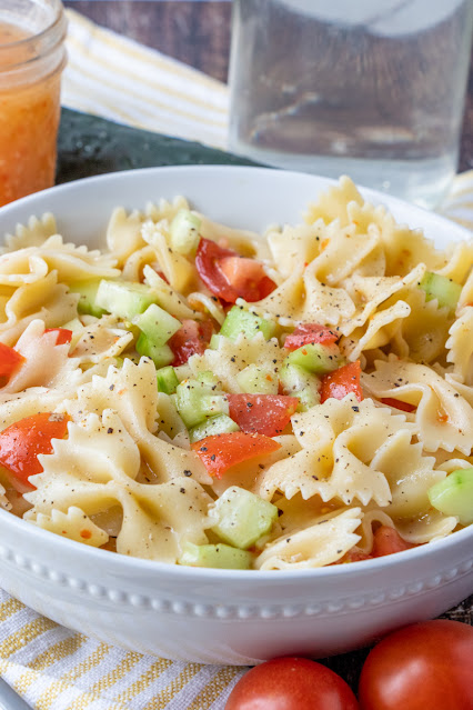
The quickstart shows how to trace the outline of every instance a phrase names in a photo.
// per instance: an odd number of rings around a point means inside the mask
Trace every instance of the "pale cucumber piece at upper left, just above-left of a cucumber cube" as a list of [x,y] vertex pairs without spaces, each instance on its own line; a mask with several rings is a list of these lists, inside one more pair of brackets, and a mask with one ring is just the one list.
[[103,279],[97,291],[95,306],[118,318],[133,320],[155,300],[155,294],[143,283]]

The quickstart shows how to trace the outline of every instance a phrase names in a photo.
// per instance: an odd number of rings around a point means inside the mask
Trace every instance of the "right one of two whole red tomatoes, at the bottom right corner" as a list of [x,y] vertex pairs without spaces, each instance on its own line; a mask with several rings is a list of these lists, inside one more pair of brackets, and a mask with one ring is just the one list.
[[472,710],[473,628],[437,619],[390,633],[360,678],[362,710]]

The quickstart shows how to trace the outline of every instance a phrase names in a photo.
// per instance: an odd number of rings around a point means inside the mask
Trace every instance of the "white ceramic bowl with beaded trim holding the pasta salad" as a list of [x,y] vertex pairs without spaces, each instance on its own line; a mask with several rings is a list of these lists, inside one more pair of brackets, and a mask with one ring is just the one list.
[[[113,207],[187,196],[234,227],[295,222],[331,181],[255,168],[157,168],[91,178],[0,210],[0,234],[52,211],[69,240],[99,246]],[[364,190],[440,246],[467,233]],[[102,242],[103,243],[103,242]],[[37,611],[118,646],[207,663],[253,663],[353,649],[400,624],[439,616],[473,591],[473,526],[378,560],[318,570],[193,569],[111,554],[0,511],[0,584]]]

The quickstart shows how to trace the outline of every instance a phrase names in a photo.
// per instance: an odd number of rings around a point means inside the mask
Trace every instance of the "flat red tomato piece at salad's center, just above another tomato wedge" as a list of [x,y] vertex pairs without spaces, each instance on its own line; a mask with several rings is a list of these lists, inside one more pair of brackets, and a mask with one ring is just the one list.
[[296,397],[281,394],[229,394],[230,417],[242,431],[276,437],[298,409]]

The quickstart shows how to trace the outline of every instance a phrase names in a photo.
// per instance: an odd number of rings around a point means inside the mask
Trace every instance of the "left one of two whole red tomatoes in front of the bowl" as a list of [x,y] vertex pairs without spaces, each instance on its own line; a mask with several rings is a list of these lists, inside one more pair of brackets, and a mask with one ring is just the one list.
[[340,676],[305,658],[255,666],[233,688],[225,710],[358,710]]

